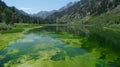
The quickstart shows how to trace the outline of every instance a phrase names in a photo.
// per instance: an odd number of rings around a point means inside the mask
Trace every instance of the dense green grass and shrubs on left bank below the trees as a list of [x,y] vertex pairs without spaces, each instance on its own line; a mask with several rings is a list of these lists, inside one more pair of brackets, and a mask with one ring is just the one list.
[[0,30],[1,34],[22,32],[24,31],[25,28],[33,28],[39,26],[37,24],[24,24],[24,23],[17,23],[14,25],[6,25],[2,23],[0,25],[1,25],[0,27],[5,27],[5,29]]

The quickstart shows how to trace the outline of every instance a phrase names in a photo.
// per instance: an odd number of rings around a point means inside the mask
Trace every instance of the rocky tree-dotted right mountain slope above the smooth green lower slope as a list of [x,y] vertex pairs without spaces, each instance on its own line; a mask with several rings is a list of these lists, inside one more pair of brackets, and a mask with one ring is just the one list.
[[[81,0],[71,7],[47,17],[50,23],[85,23],[92,17],[119,8],[120,0]],[[112,11],[114,12],[114,11]],[[110,13],[109,13],[110,14]]]

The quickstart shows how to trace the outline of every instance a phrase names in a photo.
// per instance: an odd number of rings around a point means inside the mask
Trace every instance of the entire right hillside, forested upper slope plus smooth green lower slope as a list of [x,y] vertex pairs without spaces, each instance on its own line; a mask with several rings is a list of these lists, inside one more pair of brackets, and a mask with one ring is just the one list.
[[81,0],[73,6],[50,15],[51,23],[118,24],[120,0]]

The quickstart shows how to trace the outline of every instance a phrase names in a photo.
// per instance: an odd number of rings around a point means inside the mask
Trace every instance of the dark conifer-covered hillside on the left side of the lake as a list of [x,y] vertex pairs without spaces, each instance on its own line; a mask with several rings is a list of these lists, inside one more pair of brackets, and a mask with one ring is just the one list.
[[0,23],[14,24],[14,23],[41,23],[41,18],[30,17],[25,12],[18,10],[15,7],[7,6],[0,0]]

